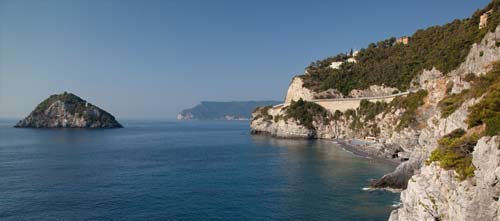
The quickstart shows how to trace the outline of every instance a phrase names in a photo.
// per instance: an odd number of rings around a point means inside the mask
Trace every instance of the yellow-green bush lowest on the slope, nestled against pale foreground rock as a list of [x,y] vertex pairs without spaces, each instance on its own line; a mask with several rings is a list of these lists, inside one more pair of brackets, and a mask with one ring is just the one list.
[[477,134],[465,135],[463,129],[457,129],[438,141],[438,148],[431,153],[427,164],[439,162],[439,166],[446,170],[453,169],[460,180],[474,176],[472,165],[472,151],[479,140]]

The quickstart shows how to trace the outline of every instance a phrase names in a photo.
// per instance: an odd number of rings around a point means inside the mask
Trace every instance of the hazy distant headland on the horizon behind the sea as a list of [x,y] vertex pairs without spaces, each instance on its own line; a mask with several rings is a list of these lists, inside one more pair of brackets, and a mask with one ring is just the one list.
[[249,120],[258,106],[276,105],[281,101],[202,101],[193,108],[182,110],[178,120]]

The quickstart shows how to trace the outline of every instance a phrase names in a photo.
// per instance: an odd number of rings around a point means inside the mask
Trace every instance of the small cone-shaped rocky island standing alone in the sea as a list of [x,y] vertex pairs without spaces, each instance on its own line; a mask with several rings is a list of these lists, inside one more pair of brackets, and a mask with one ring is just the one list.
[[82,98],[64,92],[40,103],[15,127],[31,128],[121,128],[113,115]]

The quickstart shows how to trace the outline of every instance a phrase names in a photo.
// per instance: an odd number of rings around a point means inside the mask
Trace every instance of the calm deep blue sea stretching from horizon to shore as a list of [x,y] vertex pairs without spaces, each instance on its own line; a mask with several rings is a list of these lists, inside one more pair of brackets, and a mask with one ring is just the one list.
[[18,129],[0,121],[0,220],[387,220],[393,166],[248,121]]

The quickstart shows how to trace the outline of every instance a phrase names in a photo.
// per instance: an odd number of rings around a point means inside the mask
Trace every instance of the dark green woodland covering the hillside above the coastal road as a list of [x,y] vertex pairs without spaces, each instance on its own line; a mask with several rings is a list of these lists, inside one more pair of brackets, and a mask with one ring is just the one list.
[[[499,6],[500,0],[494,0],[471,18],[418,30],[408,45],[396,44],[395,38],[372,43],[360,50],[357,63],[346,62],[339,69],[329,65],[332,61],[344,61],[346,54],[313,62],[307,67],[308,74],[302,76],[304,85],[315,91],[334,88],[344,95],[352,89],[365,89],[374,84],[407,90],[411,80],[424,69],[436,67],[448,73],[462,63],[472,44],[498,26]],[[493,11],[487,27],[479,29],[479,17],[489,10]]]

